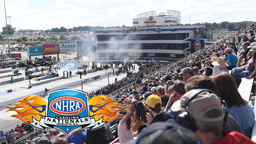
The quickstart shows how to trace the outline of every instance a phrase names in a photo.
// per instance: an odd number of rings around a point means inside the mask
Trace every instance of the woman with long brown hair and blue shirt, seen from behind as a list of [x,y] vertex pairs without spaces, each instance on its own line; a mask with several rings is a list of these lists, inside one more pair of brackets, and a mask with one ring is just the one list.
[[232,77],[227,73],[217,73],[211,79],[218,84],[217,94],[226,101],[228,114],[237,120],[244,134],[250,138],[255,115],[248,102],[238,92]]

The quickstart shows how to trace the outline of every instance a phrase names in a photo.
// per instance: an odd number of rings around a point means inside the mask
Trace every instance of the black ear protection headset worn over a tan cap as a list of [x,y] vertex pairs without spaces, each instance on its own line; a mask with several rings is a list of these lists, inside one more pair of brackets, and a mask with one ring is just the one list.
[[[187,108],[187,105],[188,103],[193,100],[195,98],[195,96],[197,96],[199,93],[203,92],[203,91],[208,91],[209,93],[214,93],[215,95],[217,95],[215,92],[211,91],[211,90],[208,90],[208,89],[197,89],[197,90],[194,90],[188,97],[186,97],[186,99],[183,101],[183,103],[181,104],[181,107],[182,108]],[[218,95],[217,95],[218,96]],[[218,96],[219,97],[219,96]],[[228,111],[227,111],[227,108],[225,108],[223,105],[225,104],[225,101],[221,100],[221,98],[219,97],[220,99],[220,102],[222,104],[222,109],[224,111],[224,118],[223,118],[223,125],[222,125],[222,128],[225,128],[227,126],[227,123],[228,123]],[[190,113],[184,111],[182,113],[180,113],[178,116],[177,116],[177,123],[179,125],[182,125],[186,128],[189,128],[193,131],[196,131],[196,123],[195,123],[195,120],[194,118],[190,115]]]

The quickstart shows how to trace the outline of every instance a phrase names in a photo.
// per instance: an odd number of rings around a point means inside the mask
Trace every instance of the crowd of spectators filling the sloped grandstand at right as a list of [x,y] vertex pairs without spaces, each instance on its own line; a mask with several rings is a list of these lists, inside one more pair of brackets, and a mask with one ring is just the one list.
[[[120,143],[254,143],[255,115],[237,86],[241,78],[256,74],[255,32],[253,23],[179,61],[140,65],[137,73],[97,90],[95,96],[126,86],[111,96],[129,106],[114,133]],[[56,130],[42,132],[38,144],[47,139],[53,144],[109,143],[116,138],[107,125],[69,137]],[[5,135],[8,140],[8,131]]]

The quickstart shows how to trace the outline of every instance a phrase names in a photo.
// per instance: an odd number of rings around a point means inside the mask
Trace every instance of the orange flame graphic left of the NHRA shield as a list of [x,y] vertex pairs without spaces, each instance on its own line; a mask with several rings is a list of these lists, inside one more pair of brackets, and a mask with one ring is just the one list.
[[[33,102],[29,102],[33,100]],[[40,121],[41,118],[45,118],[46,101],[39,96],[27,96],[23,100],[17,101],[14,107],[5,106],[9,110],[16,111],[18,115],[14,116],[25,123],[33,122],[32,117]],[[22,109],[21,109],[22,108]],[[9,111],[6,110],[5,112]]]

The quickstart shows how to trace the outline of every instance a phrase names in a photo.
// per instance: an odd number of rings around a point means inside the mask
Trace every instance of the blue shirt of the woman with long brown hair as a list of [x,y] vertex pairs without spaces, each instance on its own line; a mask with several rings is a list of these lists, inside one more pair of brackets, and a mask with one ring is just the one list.
[[232,115],[237,120],[244,135],[249,137],[252,132],[253,121],[255,118],[252,108],[246,104],[240,105],[240,107],[232,106],[231,108],[227,108],[227,110],[228,114]]

